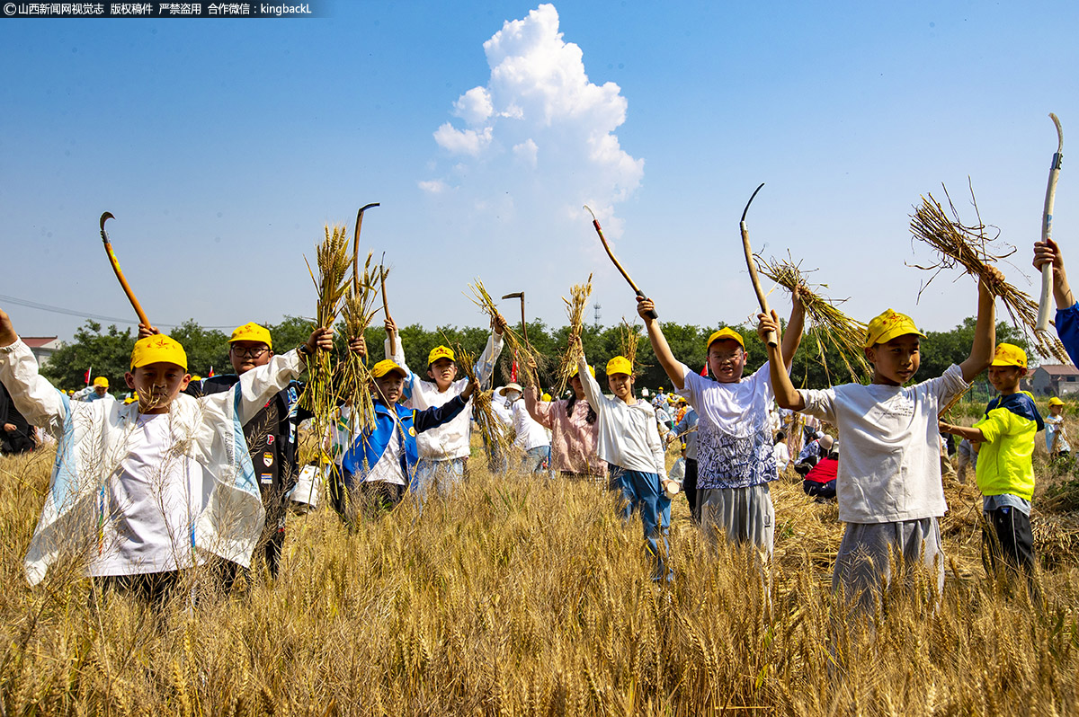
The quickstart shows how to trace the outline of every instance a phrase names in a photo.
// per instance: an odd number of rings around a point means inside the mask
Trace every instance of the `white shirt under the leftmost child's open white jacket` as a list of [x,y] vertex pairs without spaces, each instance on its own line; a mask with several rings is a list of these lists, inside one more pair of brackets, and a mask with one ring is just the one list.
[[[95,576],[164,573],[204,562],[195,559],[194,522],[213,480],[175,446],[169,414],[141,414],[132,427],[127,456],[106,484],[101,554],[87,566]],[[175,432],[175,435],[174,435]]]

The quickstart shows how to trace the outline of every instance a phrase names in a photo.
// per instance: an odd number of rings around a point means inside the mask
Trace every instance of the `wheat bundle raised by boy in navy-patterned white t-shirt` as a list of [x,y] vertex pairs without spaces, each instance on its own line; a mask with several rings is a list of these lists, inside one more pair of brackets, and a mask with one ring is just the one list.
[[[859,383],[862,376],[869,376],[871,374],[870,366],[865,361],[865,353],[862,348],[865,343],[866,327],[836,308],[837,303],[843,303],[846,300],[836,302],[821,297],[810,289],[801,266],[789,259],[773,259],[769,262],[760,256],[754,258],[760,272],[779,286],[789,289],[792,293],[797,287],[802,287],[802,305],[805,306],[806,316],[809,318],[809,333],[817,342],[817,357],[821,366],[824,367],[824,371],[828,372],[825,347],[831,345],[838,351],[839,359],[847,368],[851,381]],[[827,284],[816,286],[828,288]]]

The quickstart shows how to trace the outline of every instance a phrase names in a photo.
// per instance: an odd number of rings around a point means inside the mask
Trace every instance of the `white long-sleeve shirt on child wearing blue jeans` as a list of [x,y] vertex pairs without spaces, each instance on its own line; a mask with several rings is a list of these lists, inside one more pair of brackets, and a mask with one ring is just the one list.
[[612,467],[658,473],[667,477],[664,444],[656,427],[656,412],[647,401],[632,405],[618,398],[603,395],[599,383],[588,371],[584,351],[577,367],[588,404],[599,415],[600,432],[597,452]]

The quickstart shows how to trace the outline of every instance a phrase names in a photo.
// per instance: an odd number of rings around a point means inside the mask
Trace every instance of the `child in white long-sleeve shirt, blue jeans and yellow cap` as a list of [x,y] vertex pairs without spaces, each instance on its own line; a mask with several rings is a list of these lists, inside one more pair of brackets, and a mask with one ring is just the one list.
[[[571,342],[579,342],[571,336]],[[588,404],[599,415],[599,455],[607,463],[607,485],[622,493],[626,501],[623,518],[627,521],[640,509],[641,523],[648,552],[655,556],[652,579],[672,580],[656,540],[664,536],[664,553],[668,551],[671,501],[666,495],[667,467],[664,444],[656,428],[656,412],[646,401],[633,396],[633,367],[624,356],[615,356],[606,364],[607,387],[614,398],[603,395],[596,378],[588,372],[584,350],[577,362],[577,375]],[[673,482],[677,485],[677,482]]]

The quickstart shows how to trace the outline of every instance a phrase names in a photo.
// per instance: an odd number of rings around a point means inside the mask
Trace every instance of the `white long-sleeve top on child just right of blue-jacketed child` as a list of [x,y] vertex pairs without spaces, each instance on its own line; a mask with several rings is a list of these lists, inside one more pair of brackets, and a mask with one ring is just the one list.
[[[405,345],[397,336],[397,353],[390,354],[390,340],[385,344],[386,358],[393,359],[394,363],[408,372],[405,378],[405,390],[401,402],[416,411],[423,411],[436,405],[445,405],[464,392],[468,386],[467,378],[459,378],[450,384],[445,391],[438,390],[438,385],[432,381],[423,381],[405,363]],[[494,362],[498,360],[502,353],[502,335],[492,332],[487,340],[483,354],[476,360],[476,378],[480,385],[491,380],[494,373]],[[472,399],[457,417],[448,424],[442,424],[438,428],[432,428],[416,436],[416,447],[420,457],[427,460],[453,460],[455,458],[467,458],[472,453],[469,439],[472,436]]]

